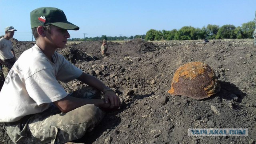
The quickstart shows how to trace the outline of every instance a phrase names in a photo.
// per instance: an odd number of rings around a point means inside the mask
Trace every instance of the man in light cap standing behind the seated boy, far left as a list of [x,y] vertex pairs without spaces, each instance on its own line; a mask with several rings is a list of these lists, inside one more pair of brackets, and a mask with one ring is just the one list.
[[2,64],[4,78],[6,78],[8,72],[16,61],[10,38],[14,36],[14,31],[17,30],[15,30],[12,26],[7,26],[4,31],[4,37],[0,38],[0,63]]

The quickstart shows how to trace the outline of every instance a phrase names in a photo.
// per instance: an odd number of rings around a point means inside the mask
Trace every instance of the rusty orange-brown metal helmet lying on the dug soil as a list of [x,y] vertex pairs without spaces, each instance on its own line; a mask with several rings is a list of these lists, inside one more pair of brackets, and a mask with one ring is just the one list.
[[219,91],[220,84],[210,66],[202,62],[189,62],[176,70],[168,93],[204,99]]

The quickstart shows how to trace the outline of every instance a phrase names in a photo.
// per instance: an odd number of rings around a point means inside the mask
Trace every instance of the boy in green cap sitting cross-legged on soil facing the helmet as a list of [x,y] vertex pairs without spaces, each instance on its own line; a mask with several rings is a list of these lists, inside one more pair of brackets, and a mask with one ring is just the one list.
[[[36,44],[20,55],[6,77],[0,92],[0,122],[5,122],[15,144],[62,144],[79,139],[102,120],[102,108],[119,108],[120,99],[56,52],[65,48],[68,30],[79,29],[62,10],[37,8],[30,12],[30,24]],[[67,94],[58,81],[74,79],[88,86]]]

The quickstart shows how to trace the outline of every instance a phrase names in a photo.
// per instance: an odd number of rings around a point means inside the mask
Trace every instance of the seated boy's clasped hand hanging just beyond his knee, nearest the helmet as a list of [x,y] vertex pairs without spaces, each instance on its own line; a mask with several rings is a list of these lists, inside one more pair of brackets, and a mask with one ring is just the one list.
[[104,92],[105,103],[110,103],[109,108],[120,108],[121,102],[119,97],[114,93],[113,90],[106,90]]

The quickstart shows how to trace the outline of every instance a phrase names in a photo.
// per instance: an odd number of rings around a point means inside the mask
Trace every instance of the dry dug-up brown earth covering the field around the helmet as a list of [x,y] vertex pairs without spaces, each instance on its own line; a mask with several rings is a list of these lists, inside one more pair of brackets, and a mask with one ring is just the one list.
[[[198,43],[199,42],[199,43]],[[101,42],[69,44],[58,52],[112,88],[122,101],[80,140],[85,144],[255,144],[256,47],[253,40]],[[34,43],[13,41],[17,57]],[[203,100],[170,95],[172,76],[187,62],[213,68],[218,94]],[[84,86],[61,83],[69,92]],[[248,136],[188,136],[188,128],[248,128]],[[11,144],[1,124],[0,143]]]

